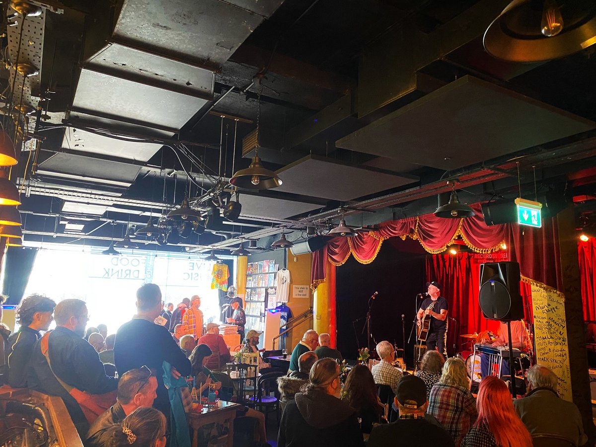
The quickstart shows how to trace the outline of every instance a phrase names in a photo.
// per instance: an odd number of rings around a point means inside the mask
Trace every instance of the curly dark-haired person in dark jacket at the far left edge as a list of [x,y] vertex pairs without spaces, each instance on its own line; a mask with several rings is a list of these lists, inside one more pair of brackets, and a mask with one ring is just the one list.
[[[1,306],[1,305],[0,305]],[[54,321],[56,303],[42,295],[33,294],[17,307],[18,332],[8,337],[8,384],[13,388],[27,386],[29,362],[35,343],[41,339],[39,331],[47,331]]]

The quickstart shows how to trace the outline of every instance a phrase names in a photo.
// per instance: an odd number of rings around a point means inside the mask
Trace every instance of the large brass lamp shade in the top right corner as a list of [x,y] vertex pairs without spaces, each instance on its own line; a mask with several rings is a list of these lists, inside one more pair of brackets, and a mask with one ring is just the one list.
[[573,54],[596,44],[596,2],[570,0],[560,8],[563,29],[542,35],[543,1],[514,0],[486,29],[483,44],[493,57],[540,62]]

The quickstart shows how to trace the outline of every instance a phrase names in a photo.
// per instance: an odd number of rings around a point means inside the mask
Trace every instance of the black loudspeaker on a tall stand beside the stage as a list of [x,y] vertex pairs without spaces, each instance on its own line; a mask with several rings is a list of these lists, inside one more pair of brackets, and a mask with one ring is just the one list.
[[[509,340],[509,374],[515,377],[513,369],[513,344],[511,343],[511,321],[524,317],[522,294],[520,293],[520,265],[517,262],[486,262],[480,265],[480,309],[486,319],[507,322]],[[516,398],[515,382],[510,380],[511,396]]]

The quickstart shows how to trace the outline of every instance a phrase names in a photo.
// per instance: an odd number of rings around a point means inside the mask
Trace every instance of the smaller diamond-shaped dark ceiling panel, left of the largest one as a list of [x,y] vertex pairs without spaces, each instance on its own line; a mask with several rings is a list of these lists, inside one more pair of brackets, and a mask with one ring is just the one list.
[[277,171],[283,181],[276,191],[347,201],[418,181],[372,167],[356,167],[309,155]]

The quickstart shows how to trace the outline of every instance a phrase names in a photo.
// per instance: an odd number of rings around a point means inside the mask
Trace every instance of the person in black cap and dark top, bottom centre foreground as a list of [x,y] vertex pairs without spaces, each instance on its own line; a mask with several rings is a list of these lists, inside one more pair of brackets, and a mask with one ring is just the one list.
[[454,446],[449,432],[425,418],[429,401],[426,385],[420,377],[406,375],[399,380],[395,403],[399,408],[399,419],[374,427],[367,447],[385,447],[398,442],[404,446]]

